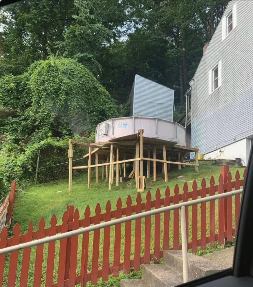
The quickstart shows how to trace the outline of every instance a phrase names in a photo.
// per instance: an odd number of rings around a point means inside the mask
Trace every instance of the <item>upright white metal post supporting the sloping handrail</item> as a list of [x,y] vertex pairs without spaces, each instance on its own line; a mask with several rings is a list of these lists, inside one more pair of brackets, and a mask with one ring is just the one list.
[[183,257],[183,279],[184,283],[188,282],[188,259],[187,259],[187,236],[186,236],[186,219],[185,219],[185,206],[181,210],[181,238],[182,238],[182,257]]

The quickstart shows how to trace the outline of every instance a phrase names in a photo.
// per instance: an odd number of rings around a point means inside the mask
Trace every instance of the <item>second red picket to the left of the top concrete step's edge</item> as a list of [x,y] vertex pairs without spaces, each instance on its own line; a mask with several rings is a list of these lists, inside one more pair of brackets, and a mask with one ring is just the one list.
[[[151,210],[151,192],[146,195],[145,211]],[[150,263],[151,216],[145,217],[144,264]]]

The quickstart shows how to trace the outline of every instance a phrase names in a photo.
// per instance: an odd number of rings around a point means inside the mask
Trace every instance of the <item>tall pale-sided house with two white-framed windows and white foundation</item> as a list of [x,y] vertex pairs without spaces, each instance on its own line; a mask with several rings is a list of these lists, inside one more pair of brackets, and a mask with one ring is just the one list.
[[191,146],[204,159],[239,157],[247,164],[253,137],[252,14],[252,0],[228,3],[191,81]]

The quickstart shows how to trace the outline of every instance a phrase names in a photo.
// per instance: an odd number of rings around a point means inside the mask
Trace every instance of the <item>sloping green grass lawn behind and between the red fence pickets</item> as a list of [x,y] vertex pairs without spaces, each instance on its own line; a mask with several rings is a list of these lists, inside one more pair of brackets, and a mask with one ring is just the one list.
[[[218,177],[220,175],[221,168],[215,165],[212,165],[211,162],[200,162],[200,168],[198,172],[194,171],[193,167],[178,169],[171,169],[168,172],[169,182],[164,182],[164,177],[162,174],[158,174],[157,182],[152,181],[152,177],[147,179],[147,190],[151,191],[152,200],[155,199],[154,195],[157,188],[160,188],[161,197],[164,197],[165,188],[169,186],[171,193],[173,194],[175,184],[178,184],[180,187],[180,193],[182,192],[182,187],[184,182],[180,180],[196,180],[198,186],[200,187],[200,181],[203,177],[209,181],[210,177],[214,175],[216,184],[218,184]],[[237,168],[230,168],[232,173],[232,180],[234,180],[234,175]],[[244,169],[239,169],[241,177],[243,176]],[[101,170],[100,170],[101,172]],[[183,175],[182,179],[177,179],[178,176]],[[209,182],[207,182],[209,186]],[[189,190],[191,190],[191,183],[189,183]],[[61,191],[61,192],[57,192]],[[141,193],[142,200],[145,201],[146,191]],[[19,222],[21,227],[21,233],[26,233],[29,221],[32,220],[34,225],[34,230],[37,230],[37,225],[39,219],[43,216],[45,219],[46,227],[50,226],[51,216],[55,213],[57,216],[58,224],[61,224],[61,217],[63,212],[66,210],[67,205],[74,205],[75,208],[79,209],[80,218],[83,218],[84,210],[87,205],[91,208],[91,215],[94,215],[95,206],[97,203],[100,203],[102,212],[105,211],[105,205],[108,200],[111,201],[112,210],[116,208],[116,202],[119,197],[122,199],[122,204],[125,206],[126,198],[128,195],[131,195],[133,204],[135,204],[135,198],[137,195],[137,190],[135,188],[135,181],[132,179],[126,183],[120,184],[119,187],[114,185],[112,190],[108,190],[108,184],[99,179],[99,184],[95,184],[95,174],[92,174],[91,188],[87,189],[87,174],[78,175],[73,177],[73,191],[68,192],[68,180],[54,181],[47,184],[39,184],[36,186],[29,186],[24,190],[17,192],[17,200],[14,205],[14,216],[12,228],[15,222]],[[218,202],[216,203],[217,210]],[[209,204],[207,204],[207,236],[209,235]],[[200,209],[198,208],[198,238],[200,238]],[[234,218],[233,218],[234,221]],[[218,228],[218,218],[216,216],[216,229]],[[173,239],[173,212],[170,213],[170,247],[172,247]],[[135,232],[135,223],[132,222],[132,245],[131,245],[131,259],[133,259],[134,253],[134,232]],[[10,230],[11,231],[11,230]],[[151,253],[154,248],[154,216],[151,217]],[[217,230],[216,230],[217,232]],[[163,244],[163,214],[161,214],[161,240],[160,248],[162,250]],[[121,258],[120,262],[123,262],[124,259],[124,235],[125,235],[125,225],[122,224],[121,232]],[[103,230],[100,231],[100,256],[99,256],[99,266],[102,267],[102,252],[103,252]],[[189,241],[191,240],[191,207],[189,207]],[[90,248],[88,255],[88,273],[91,271],[92,263],[92,242],[93,242],[93,232],[90,234]],[[144,253],[144,219],[142,219],[142,237],[141,237],[141,256]],[[111,227],[111,244],[110,244],[110,265],[113,264],[113,247],[114,247],[114,227]],[[77,275],[79,275],[80,270],[80,257],[81,257],[81,245],[82,245],[82,236],[79,236],[78,240],[78,260],[77,260]],[[218,245],[216,246],[218,248]],[[203,252],[199,250],[199,254],[211,252],[213,249],[207,246],[207,251]],[[17,270],[17,281],[16,286],[19,286],[19,277],[21,271],[21,253],[19,251],[18,257],[18,270]],[[35,261],[36,248],[31,250],[30,258],[30,270],[29,270],[29,280],[28,286],[32,286],[33,274],[34,274],[34,261]],[[58,271],[58,254],[59,254],[59,242],[56,243],[56,252],[55,252],[55,270],[54,270],[54,283],[57,281],[57,271]],[[8,274],[8,261],[9,255],[6,257],[6,266],[4,274],[3,286],[6,286],[6,279]],[[43,270],[42,270],[42,286],[45,284],[45,275],[46,275],[46,261],[47,261],[47,244],[44,246],[44,260],[43,260]],[[121,278],[123,275],[120,275]],[[127,277],[140,277],[140,273],[134,272]],[[119,286],[119,279],[110,277],[110,281],[107,283],[101,283],[100,286]]]

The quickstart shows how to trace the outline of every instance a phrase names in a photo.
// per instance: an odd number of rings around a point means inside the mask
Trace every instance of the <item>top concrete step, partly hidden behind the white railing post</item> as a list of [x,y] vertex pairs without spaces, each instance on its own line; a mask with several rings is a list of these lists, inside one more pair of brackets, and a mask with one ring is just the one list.
[[[170,269],[176,271],[180,275],[183,275],[183,261],[182,251],[164,251],[163,263]],[[207,275],[214,274],[225,268],[215,261],[207,260],[201,256],[188,253],[188,272],[189,280],[205,277]]]

